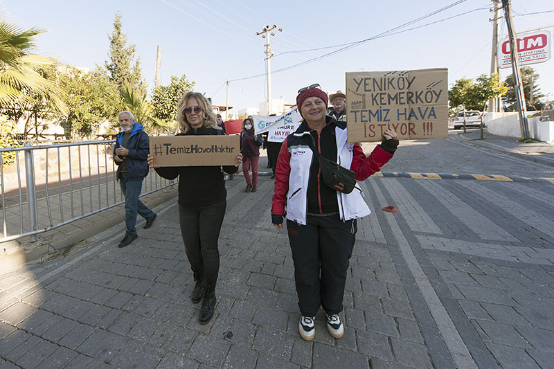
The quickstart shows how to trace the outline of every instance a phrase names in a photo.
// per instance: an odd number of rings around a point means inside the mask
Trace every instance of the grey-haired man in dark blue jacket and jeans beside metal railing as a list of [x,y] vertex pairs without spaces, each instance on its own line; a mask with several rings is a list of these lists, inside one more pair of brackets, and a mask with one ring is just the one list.
[[157,215],[139,200],[143,179],[148,175],[146,157],[150,152],[148,134],[143,126],[134,121],[130,111],[121,111],[118,116],[121,132],[116,136],[114,161],[118,165],[116,178],[125,195],[125,237],[118,247],[125,247],[136,237],[136,213],[146,219],[144,228],[150,228]]

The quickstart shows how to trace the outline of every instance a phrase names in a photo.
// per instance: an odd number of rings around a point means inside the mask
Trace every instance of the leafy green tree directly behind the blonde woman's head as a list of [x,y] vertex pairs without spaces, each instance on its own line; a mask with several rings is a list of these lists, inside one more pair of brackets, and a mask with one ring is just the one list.
[[166,123],[177,118],[177,102],[188,91],[193,91],[195,82],[186,79],[186,75],[171,76],[171,83],[167,86],[158,86],[152,94],[153,115]]

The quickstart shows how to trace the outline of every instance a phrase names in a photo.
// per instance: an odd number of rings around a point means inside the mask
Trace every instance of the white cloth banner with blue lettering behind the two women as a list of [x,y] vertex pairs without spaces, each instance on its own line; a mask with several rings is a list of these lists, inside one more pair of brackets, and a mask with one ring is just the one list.
[[302,116],[295,107],[288,113],[280,116],[253,116],[254,132],[262,134],[267,132],[267,141],[283,142],[285,138],[298,129],[302,123]]

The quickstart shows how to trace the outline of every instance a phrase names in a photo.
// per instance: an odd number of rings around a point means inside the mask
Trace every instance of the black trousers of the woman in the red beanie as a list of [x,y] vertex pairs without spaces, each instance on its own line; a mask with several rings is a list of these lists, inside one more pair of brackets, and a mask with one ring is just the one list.
[[287,220],[294,261],[298,307],[303,316],[343,310],[344,285],[356,240],[356,220],[341,221],[338,214],[307,216],[307,225]]

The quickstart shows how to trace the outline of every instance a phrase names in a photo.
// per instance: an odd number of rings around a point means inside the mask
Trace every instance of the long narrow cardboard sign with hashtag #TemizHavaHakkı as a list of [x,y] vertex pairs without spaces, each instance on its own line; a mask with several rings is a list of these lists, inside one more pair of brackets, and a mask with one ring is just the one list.
[[239,136],[154,136],[150,154],[156,167],[235,165]]

